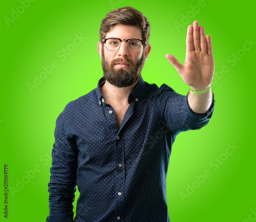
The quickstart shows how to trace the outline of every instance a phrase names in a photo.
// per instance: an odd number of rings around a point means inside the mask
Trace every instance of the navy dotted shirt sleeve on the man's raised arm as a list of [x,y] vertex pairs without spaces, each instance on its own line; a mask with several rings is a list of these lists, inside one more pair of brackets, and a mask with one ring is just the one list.
[[[188,93],[186,96],[175,91],[165,92],[163,118],[170,130],[178,135],[181,131],[200,129],[207,125],[214,112],[215,99],[212,93],[212,101],[206,113],[195,113],[188,105]],[[164,98],[163,97],[163,98]]]

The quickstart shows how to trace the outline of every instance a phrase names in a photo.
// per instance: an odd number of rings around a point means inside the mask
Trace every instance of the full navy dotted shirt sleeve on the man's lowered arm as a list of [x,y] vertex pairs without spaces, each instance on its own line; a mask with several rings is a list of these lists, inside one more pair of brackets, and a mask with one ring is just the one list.
[[48,183],[50,214],[46,221],[73,221],[76,191],[77,156],[75,138],[67,135],[65,111],[56,120],[55,143],[52,149],[50,183]]

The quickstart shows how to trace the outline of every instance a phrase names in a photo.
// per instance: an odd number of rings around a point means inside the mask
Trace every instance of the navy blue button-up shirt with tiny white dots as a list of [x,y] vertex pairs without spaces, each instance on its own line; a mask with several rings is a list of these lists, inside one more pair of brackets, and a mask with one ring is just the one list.
[[170,221],[166,175],[181,131],[200,129],[214,111],[190,109],[187,95],[142,77],[128,97],[118,129],[115,110],[98,87],[68,103],[56,120],[47,221]]

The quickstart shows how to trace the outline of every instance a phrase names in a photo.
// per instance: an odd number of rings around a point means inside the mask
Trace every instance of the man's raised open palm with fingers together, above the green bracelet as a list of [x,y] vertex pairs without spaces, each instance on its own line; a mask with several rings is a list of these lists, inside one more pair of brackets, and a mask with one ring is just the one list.
[[182,65],[173,55],[165,57],[175,67],[183,81],[195,91],[204,91],[210,87],[214,77],[214,56],[209,35],[205,36],[204,27],[193,26],[187,28],[186,58]]

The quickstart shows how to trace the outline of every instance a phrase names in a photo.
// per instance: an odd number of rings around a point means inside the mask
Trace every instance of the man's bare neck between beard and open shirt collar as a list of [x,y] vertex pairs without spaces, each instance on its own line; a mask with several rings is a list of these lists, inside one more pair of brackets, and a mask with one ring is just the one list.
[[137,82],[131,86],[119,88],[110,84],[108,81],[105,81],[105,84],[102,85],[100,91],[105,97],[106,102],[125,103],[136,84]]

